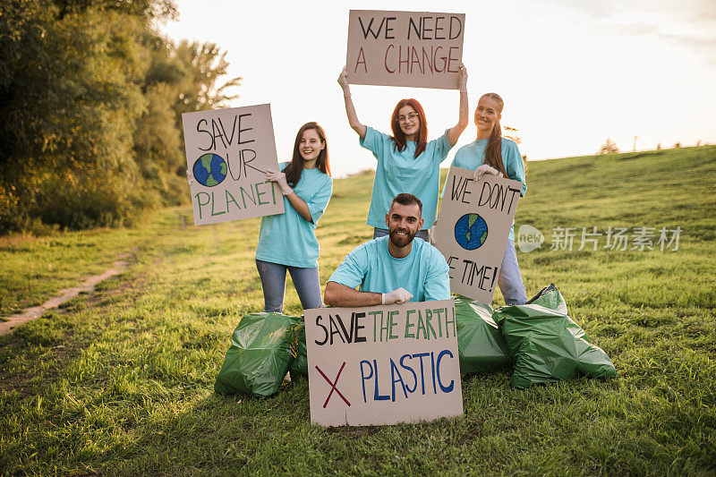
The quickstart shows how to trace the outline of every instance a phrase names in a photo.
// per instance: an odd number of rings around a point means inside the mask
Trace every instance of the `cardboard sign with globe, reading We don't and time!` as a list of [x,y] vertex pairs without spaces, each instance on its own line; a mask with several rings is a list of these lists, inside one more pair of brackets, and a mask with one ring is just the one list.
[[492,302],[522,183],[450,167],[435,246],[450,267],[450,290]]

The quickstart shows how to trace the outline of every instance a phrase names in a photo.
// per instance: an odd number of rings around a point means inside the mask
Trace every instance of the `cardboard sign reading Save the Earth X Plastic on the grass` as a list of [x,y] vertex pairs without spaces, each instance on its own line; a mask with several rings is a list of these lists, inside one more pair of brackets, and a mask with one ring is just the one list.
[[311,422],[364,426],[463,414],[452,300],[304,313]]

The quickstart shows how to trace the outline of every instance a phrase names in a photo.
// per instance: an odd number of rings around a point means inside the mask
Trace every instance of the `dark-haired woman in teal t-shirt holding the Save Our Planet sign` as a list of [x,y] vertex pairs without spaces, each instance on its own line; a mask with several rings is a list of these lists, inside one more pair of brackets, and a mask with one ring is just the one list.
[[319,241],[316,224],[328,207],[333,179],[328,163],[326,132],[317,123],[301,126],[291,162],[268,171],[266,178],[284,194],[286,212],[261,218],[256,268],[259,269],[265,311],[283,311],[286,270],[303,309],[320,308]]

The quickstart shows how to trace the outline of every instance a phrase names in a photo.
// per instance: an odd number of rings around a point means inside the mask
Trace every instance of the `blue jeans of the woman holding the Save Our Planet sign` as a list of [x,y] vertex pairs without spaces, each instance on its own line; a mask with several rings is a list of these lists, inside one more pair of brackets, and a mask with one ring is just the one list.
[[288,267],[280,263],[256,260],[256,268],[261,277],[263,287],[264,311],[284,311],[284,294],[286,294],[286,270],[294,280],[296,293],[301,300],[303,310],[322,308],[320,299],[319,268]]

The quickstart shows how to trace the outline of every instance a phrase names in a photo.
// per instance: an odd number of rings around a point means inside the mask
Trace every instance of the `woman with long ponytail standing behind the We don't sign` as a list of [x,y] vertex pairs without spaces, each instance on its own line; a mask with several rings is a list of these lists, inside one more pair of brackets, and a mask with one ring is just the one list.
[[[502,137],[499,120],[504,102],[497,93],[482,95],[475,108],[477,139],[457,150],[451,166],[475,171],[474,180],[482,175],[501,175],[522,183],[521,196],[527,192],[524,163],[515,141]],[[499,290],[508,305],[527,302],[520,266],[515,251],[515,222],[509,231],[507,249],[499,268]]]

